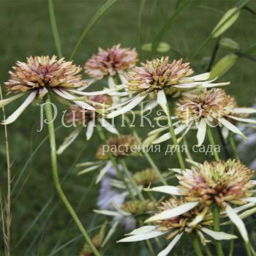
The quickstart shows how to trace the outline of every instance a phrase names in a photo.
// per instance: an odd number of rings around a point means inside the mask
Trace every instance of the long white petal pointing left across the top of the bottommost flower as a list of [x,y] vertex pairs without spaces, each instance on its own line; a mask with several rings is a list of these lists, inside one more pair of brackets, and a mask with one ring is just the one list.
[[187,211],[190,211],[192,208],[195,208],[195,206],[197,206],[197,205],[198,205],[198,202],[184,203],[183,205],[177,206],[176,208],[162,211],[160,214],[156,214],[156,215],[146,219],[145,222],[154,222],[157,220],[170,219],[173,217],[177,217],[181,214],[184,214]]

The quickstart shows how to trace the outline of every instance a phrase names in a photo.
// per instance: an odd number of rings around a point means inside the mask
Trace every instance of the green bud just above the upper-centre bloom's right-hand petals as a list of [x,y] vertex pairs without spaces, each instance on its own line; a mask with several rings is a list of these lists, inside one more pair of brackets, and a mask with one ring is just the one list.
[[210,80],[214,78],[220,78],[224,75],[233,65],[236,63],[238,56],[236,54],[228,54],[220,59],[217,64],[211,69]]

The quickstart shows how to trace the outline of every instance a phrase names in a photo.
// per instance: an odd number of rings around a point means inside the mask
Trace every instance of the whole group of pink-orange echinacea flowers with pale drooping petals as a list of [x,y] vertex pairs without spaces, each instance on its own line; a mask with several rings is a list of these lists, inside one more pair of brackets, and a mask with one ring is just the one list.
[[[162,181],[159,172],[153,168],[132,175],[124,163],[125,157],[137,155],[131,154],[129,146],[140,144],[140,139],[132,135],[120,135],[105,118],[115,118],[127,113],[143,101],[148,102],[151,108],[159,105],[165,111],[168,121],[175,120],[173,125],[176,128],[172,134],[169,122],[168,127],[152,130],[146,138],[147,143],[162,143],[169,139],[174,141],[176,135],[179,135],[179,143],[187,132],[197,129],[197,146],[200,146],[210,127],[222,127],[225,137],[235,133],[246,138],[237,124],[256,124],[254,119],[248,118],[248,115],[256,113],[256,110],[239,108],[233,97],[223,89],[216,88],[229,83],[214,83],[216,79],[209,80],[211,74],[208,72],[192,75],[194,70],[182,59],[170,62],[168,57],[162,57],[146,61],[140,64],[140,67],[136,66],[137,62],[138,53],[135,49],[121,48],[120,45],[108,50],[99,49],[99,53],[85,64],[84,69],[89,79],[82,80],[82,75],[78,75],[80,67],[72,61],[57,60],[56,56],[29,57],[26,63],[18,61],[17,66],[13,67],[14,71],[10,71],[10,80],[5,83],[8,94],[15,95],[2,99],[0,107],[23,95],[27,97],[2,124],[12,123],[32,102],[38,102],[47,95],[54,94],[56,99],[72,101],[66,116],[67,123],[72,124],[75,121],[77,125],[59,147],[58,154],[62,154],[78,138],[84,124],[86,138],[89,140],[94,132],[95,120],[98,126],[105,127],[108,132],[114,134],[114,137],[105,143],[110,148],[125,145],[126,150],[104,154],[102,146],[99,146],[97,162],[80,163],[78,167],[86,169],[78,174],[100,170],[97,183],[102,181],[98,203],[101,209],[96,210],[99,214],[113,216],[116,222],[119,222],[123,218],[131,219],[137,215],[156,212],[154,216],[146,219],[146,222],[152,222],[154,225],[139,227],[120,242],[142,241],[164,235],[167,240],[173,239],[159,253],[165,256],[185,234],[199,236],[202,244],[208,242],[205,235],[214,240],[236,238],[233,234],[212,230],[214,218],[217,216],[216,211],[220,211],[221,219],[230,218],[248,244],[249,238],[242,219],[255,212],[256,197],[253,197],[253,187],[256,181],[252,180],[252,170],[239,160],[233,159],[206,161],[203,164],[192,162],[190,169],[181,167],[171,169],[167,173],[167,176],[173,172],[178,173],[177,187],[165,184],[149,188],[151,183]],[[87,91],[94,82],[102,78],[108,78],[108,89]],[[180,98],[176,100],[175,115],[171,116],[168,102],[174,101],[177,97]],[[118,164],[121,164],[121,167]],[[116,189],[121,196],[116,197]],[[143,189],[150,192],[150,195],[151,192],[164,192],[170,195],[170,198],[163,201],[161,199],[160,202],[154,200],[151,195],[151,200],[148,200],[143,197]],[[128,197],[131,198],[127,200]],[[223,225],[228,223],[222,222]],[[102,237],[94,240],[97,248],[102,246],[99,243],[99,240],[103,243]]]

